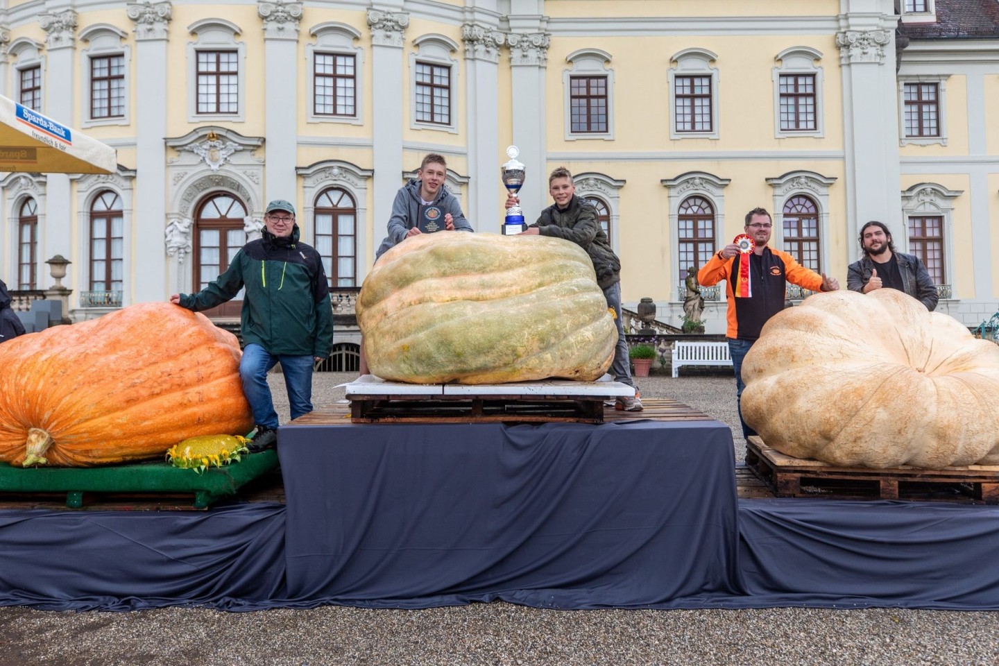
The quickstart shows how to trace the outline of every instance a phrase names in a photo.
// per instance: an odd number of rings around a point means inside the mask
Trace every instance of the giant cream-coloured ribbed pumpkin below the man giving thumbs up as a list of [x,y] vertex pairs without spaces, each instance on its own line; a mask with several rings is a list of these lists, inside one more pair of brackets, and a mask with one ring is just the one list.
[[999,345],[902,292],[818,294],[763,327],[742,416],[788,455],[840,466],[999,464]]

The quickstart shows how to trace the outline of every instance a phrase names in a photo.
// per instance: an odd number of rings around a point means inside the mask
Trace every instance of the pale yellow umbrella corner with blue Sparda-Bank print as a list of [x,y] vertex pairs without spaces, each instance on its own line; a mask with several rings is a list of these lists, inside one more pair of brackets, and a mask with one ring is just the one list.
[[115,149],[0,96],[0,172],[110,174]]

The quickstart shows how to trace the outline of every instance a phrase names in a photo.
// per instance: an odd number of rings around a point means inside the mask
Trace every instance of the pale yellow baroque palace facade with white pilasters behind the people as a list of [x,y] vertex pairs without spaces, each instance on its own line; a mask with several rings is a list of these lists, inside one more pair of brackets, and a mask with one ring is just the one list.
[[[349,302],[426,153],[497,233],[510,144],[526,217],[566,166],[621,258],[625,307],[651,297],[674,326],[687,268],[757,206],[774,246],[844,287],[879,220],[929,268],[940,312],[976,326],[997,309],[997,0],[0,7],[0,94],[118,151],[109,176],[0,180],[0,277],[42,290],[46,260],[69,259],[74,320],[197,291],[272,199],[296,204]],[[705,296],[722,332],[724,296]]]

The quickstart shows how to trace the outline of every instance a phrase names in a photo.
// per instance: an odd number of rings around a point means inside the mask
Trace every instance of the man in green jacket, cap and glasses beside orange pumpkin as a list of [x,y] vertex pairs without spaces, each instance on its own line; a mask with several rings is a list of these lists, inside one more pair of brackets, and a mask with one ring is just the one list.
[[281,363],[292,418],[298,418],[313,408],[313,362],[329,356],[333,345],[333,308],[323,259],[299,242],[295,207],[280,199],[271,202],[264,227],[263,238],[243,246],[229,269],[201,292],[170,297],[170,303],[197,313],[246,289],[240,377],[257,422],[251,452],[277,443],[278,414],[268,370]]

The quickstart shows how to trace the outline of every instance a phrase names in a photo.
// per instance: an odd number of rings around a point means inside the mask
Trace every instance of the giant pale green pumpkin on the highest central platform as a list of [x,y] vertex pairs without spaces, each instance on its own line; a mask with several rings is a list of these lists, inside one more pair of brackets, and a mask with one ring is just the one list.
[[376,263],[357,313],[371,371],[397,381],[593,380],[617,343],[589,256],[543,236],[409,238]]

